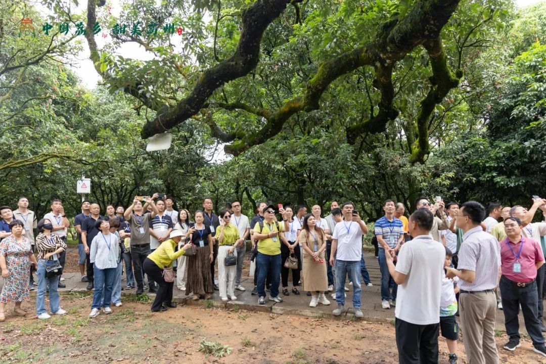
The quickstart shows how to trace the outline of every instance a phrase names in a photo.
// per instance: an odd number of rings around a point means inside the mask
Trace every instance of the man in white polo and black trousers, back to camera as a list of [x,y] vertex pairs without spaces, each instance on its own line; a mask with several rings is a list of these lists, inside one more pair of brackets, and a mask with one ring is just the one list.
[[389,273],[399,284],[394,314],[398,360],[402,364],[438,362],[446,248],[429,235],[433,224],[432,212],[418,208],[408,220],[414,238],[400,247],[398,256],[394,248],[384,250]]

